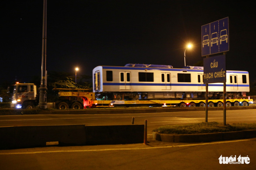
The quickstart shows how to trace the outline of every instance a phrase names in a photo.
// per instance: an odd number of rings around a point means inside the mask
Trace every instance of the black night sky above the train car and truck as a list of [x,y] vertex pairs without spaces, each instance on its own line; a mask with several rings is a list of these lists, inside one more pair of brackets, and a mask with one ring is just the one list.
[[[1,2],[0,83],[41,76],[43,0]],[[202,61],[201,26],[229,17],[227,69],[255,73],[255,6],[231,0],[48,0],[47,71]]]

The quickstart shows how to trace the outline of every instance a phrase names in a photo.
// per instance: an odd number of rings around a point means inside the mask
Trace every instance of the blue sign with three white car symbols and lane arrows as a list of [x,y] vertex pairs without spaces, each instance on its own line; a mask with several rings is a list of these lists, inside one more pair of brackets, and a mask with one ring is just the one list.
[[228,17],[201,27],[202,56],[229,51]]

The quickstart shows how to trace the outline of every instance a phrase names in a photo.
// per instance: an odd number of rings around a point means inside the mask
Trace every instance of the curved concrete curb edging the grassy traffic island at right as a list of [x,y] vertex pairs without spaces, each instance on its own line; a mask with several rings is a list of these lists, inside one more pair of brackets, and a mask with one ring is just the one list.
[[161,134],[153,132],[153,139],[163,142],[193,143],[255,138],[256,130],[203,134]]

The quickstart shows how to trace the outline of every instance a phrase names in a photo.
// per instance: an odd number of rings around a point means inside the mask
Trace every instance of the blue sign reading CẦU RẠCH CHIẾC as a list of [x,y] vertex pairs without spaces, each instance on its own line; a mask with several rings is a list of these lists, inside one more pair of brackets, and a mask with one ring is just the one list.
[[204,58],[203,73],[204,84],[226,82],[226,56]]

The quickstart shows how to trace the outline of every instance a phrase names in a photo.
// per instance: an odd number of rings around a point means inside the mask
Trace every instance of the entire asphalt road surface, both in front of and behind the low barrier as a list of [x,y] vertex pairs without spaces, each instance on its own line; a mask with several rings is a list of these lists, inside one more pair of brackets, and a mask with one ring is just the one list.
[[[148,144],[42,147],[0,150],[0,169],[9,170],[95,170],[95,169],[225,169],[256,167],[256,138],[209,143],[168,143],[152,139],[155,127],[167,124],[197,123],[205,112],[91,114],[91,115],[21,115],[0,116],[0,126],[32,125],[122,125],[144,124],[148,120]],[[208,121],[223,122],[223,111],[209,111]],[[227,111],[227,123],[255,123],[255,110]],[[249,158],[249,164],[220,164],[219,158]]]

